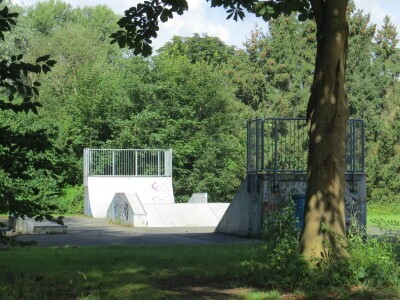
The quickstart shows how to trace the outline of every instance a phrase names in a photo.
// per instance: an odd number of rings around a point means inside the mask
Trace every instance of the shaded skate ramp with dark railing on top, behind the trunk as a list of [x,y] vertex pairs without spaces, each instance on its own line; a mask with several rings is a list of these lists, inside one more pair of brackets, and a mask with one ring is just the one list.
[[[216,231],[258,237],[266,216],[295,202],[300,223],[307,188],[305,119],[266,118],[247,124],[247,177]],[[346,138],[346,224],[366,225],[364,123],[349,121]]]

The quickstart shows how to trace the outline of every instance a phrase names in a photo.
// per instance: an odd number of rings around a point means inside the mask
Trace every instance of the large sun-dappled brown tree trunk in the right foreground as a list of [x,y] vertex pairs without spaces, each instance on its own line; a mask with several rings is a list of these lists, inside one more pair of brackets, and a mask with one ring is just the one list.
[[308,182],[301,240],[307,259],[325,257],[331,249],[340,248],[337,241],[345,240],[345,140],[349,119],[344,88],[348,1],[311,3],[317,22],[317,56],[307,112]]

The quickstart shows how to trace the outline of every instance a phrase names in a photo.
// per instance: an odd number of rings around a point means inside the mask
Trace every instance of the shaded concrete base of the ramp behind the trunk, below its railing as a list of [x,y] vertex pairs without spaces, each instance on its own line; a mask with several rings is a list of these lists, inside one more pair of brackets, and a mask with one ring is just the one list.
[[[258,237],[264,216],[289,203],[292,196],[305,196],[305,174],[248,175],[219,222],[216,231]],[[366,183],[364,174],[346,175],[346,223],[351,218],[366,225]]]

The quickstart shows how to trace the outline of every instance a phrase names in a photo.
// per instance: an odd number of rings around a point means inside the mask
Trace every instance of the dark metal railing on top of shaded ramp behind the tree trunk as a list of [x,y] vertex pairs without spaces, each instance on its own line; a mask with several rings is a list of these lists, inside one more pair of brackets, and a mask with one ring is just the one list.
[[[349,120],[346,172],[364,173],[364,122]],[[302,118],[264,118],[247,122],[247,172],[305,173],[308,129]]]

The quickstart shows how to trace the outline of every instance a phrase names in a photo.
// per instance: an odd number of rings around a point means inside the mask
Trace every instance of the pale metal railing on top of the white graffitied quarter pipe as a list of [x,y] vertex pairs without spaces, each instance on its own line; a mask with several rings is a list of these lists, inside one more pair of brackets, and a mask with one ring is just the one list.
[[172,176],[172,150],[89,149],[83,152],[84,184],[88,176]]

